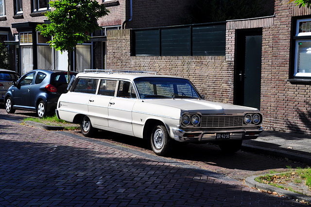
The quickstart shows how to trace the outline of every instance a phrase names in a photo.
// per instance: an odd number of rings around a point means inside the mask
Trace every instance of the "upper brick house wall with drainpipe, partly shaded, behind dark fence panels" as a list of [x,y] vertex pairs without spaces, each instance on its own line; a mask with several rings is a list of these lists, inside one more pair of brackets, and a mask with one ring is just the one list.
[[[115,1],[113,1],[115,2]],[[100,19],[100,26],[122,25],[130,18],[130,0],[105,3],[110,14]],[[180,17],[188,12],[193,0],[132,0],[133,18],[125,28],[160,27],[181,24]]]

